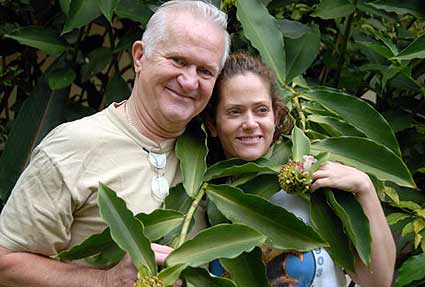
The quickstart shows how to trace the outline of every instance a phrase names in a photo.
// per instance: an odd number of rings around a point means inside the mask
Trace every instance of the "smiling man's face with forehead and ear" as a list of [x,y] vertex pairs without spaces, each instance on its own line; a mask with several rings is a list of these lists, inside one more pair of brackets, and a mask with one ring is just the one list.
[[135,64],[138,105],[164,129],[185,126],[202,111],[224,54],[221,28],[189,14],[173,17],[165,40]]

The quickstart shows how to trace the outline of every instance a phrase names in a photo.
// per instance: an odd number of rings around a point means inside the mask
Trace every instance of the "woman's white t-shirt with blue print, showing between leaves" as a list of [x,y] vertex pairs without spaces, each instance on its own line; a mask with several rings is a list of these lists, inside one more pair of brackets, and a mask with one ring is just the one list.
[[[270,201],[292,212],[305,223],[311,223],[308,203],[302,197],[281,190]],[[323,248],[305,253],[283,253],[268,263],[267,272],[269,277],[281,276],[282,284],[276,287],[346,286],[344,273]]]

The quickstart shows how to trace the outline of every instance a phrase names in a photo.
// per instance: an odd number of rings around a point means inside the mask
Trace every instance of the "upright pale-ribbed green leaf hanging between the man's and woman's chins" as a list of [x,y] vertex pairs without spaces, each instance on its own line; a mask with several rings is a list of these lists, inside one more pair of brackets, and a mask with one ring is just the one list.
[[183,186],[186,193],[193,197],[203,183],[207,170],[207,140],[205,129],[194,133],[186,132],[177,139],[176,156],[180,160],[180,169],[183,174]]

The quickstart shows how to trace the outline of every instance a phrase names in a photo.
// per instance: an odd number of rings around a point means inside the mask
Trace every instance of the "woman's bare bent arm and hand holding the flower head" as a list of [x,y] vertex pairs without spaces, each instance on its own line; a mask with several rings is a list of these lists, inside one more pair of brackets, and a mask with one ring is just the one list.
[[350,277],[362,287],[391,286],[396,258],[395,243],[375,188],[367,174],[353,167],[328,162],[313,174],[313,179],[313,191],[320,187],[331,187],[356,194],[357,201],[369,219],[372,237],[370,270],[357,256],[356,272],[350,273]]

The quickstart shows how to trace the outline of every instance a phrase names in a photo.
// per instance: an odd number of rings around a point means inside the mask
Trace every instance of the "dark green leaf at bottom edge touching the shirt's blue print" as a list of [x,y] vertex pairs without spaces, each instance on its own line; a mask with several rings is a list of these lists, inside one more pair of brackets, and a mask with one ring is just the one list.
[[269,286],[260,248],[244,252],[234,259],[220,259],[238,286]]

